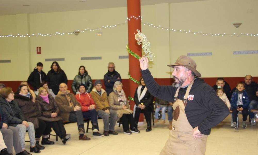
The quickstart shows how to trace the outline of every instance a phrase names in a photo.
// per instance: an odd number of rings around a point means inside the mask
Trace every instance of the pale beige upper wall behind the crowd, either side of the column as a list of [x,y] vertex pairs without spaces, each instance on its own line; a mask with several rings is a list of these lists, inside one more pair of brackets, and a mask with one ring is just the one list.
[[[214,0],[174,4],[157,4],[141,7],[142,22],[174,29],[207,33],[258,33],[256,0]],[[96,28],[102,25],[124,23],[127,8],[96,9],[56,13],[17,14],[0,16],[0,34],[37,34],[71,32],[76,29]],[[242,22],[239,28],[232,23]],[[102,36],[96,36],[102,32]],[[192,57],[203,77],[238,77],[246,74],[258,76],[257,54],[232,55],[237,50],[258,50],[257,37],[211,37],[184,34],[142,25],[142,32],[155,53],[150,70],[154,77],[170,78],[173,69],[166,64],[174,63],[180,55],[196,52],[212,52],[212,56]],[[134,34],[131,34],[134,35]],[[45,58],[65,58],[59,61],[69,80],[84,65],[92,79],[103,79],[107,64],[112,61],[123,79],[128,79],[127,24],[80,33],[78,36],[57,35],[30,38],[0,38],[0,81],[27,80],[29,73],[41,61],[47,73],[52,62]],[[36,54],[41,46],[42,54]],[[97,57],[102,60],[80,60],[80,57]],[[252,67],[246,67],[246,66]]]

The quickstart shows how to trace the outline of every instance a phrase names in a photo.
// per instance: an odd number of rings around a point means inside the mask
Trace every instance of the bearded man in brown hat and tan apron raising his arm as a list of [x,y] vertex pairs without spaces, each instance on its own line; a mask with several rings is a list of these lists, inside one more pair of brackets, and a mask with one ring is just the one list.
[[196,70],[196,63],[180,56],[173,67],[173,86],[158,85],[148,70],[148,58],[139,59],[143,80],[149,92],[173,102],[173,122],[169,138],[160,154],[205,154],[207,136],[211,128],[229,114],[228,107],[204,82]]

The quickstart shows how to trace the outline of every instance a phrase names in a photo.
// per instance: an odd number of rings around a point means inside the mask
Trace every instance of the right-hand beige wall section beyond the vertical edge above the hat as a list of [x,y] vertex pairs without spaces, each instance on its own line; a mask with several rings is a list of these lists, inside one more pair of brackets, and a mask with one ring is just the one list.
[[[170,27],[207,33],[258,33],[258,1],[216,0],[170,4]],[[243,23],[235,28],[232,23]],[[192,57],[203,77],[258,76],[258,54],[232,55],[258,50],[258,37],[211,37],[170,33],[171,63],[180,55],[212,52]]]

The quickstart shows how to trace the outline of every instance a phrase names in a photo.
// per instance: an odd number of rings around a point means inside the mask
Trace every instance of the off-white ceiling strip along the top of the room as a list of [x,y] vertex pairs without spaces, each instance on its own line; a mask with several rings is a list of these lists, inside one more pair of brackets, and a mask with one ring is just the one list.
[[[0,0],[0,15],[46,13],[126,7],[126,0]],[[132,0],[131,0],[132,1]],[[141,0],[141,5],[181,3],[204,0]],[[30,5],[30,6],[23,6]]]

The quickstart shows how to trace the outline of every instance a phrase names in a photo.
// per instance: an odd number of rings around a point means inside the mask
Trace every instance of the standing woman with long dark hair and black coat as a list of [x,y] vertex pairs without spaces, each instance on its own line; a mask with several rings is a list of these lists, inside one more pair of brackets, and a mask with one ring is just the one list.
[[57,61],[54,61],[51,65],[51,70],[47,73],[47,83],[49,88],[53,90],[54,94],[57,95],[59,91],[59,84],[67,84],[67,76],[65,72],[61,69]]

